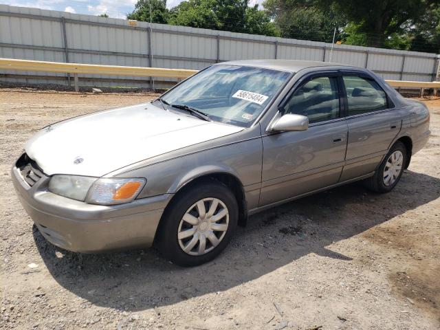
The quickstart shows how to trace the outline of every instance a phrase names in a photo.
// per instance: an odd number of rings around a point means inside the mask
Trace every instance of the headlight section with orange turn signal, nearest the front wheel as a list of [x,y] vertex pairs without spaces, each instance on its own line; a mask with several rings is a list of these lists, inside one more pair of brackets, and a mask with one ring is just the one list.
[[133,201],[144,188],[145,179],[98,179],[87,194],[87,203],[111,205]]

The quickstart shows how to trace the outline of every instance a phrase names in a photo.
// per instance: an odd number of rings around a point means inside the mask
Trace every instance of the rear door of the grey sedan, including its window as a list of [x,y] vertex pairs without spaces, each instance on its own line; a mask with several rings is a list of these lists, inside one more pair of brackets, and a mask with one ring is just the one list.
[[401,128],[399,111],[373,77],[342,72],[349,138],[340,181],[369,174],[388,152]]

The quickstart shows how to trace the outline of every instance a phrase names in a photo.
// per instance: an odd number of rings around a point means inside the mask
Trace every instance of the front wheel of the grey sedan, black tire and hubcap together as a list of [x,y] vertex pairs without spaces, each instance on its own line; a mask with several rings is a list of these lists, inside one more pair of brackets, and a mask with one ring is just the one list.
[[[199,211],[203,207],[204,216]],[[211,208],[215,208],[212,217]],[[157,248],[166,259],[180,266],[207,263],[228,245],[238,219],[234,193],[219,181],[207,179],[184,188],[171,201],[159,225]]]

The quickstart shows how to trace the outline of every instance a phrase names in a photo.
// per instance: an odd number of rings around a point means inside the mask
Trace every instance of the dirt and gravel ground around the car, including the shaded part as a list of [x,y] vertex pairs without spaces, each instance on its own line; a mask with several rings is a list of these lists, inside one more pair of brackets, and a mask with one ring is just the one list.
[[41,127],[151,94],[0,89],[1,329],[440,329],[440,101],[397,188],[351,184],[250,218],[215,261],[47,243],[10,166]]

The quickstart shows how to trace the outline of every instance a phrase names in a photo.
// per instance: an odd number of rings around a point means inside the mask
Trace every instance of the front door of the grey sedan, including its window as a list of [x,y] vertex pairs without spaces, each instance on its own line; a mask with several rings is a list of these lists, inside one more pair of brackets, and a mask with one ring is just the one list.
[[260,206],[337,184],[344,166],[348,126],[337,74],[311,76],[280,109],[309,118],[309,129],[263,136]]

